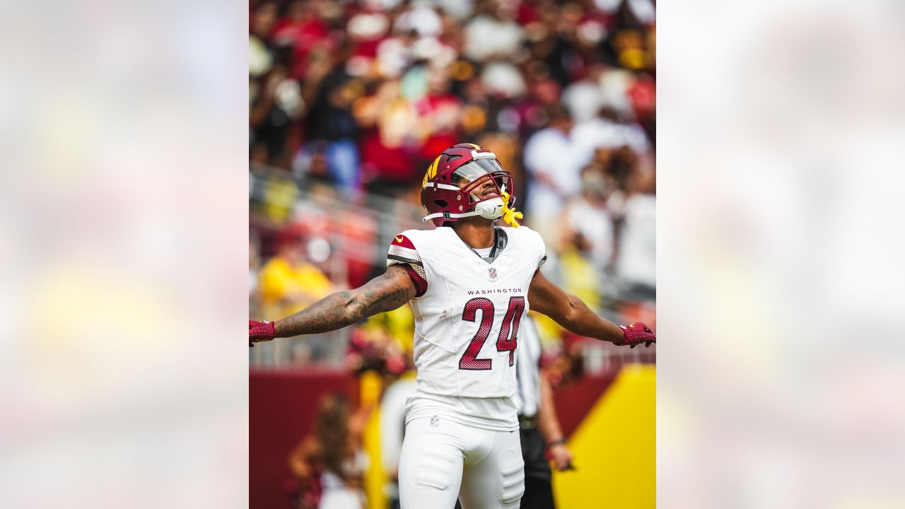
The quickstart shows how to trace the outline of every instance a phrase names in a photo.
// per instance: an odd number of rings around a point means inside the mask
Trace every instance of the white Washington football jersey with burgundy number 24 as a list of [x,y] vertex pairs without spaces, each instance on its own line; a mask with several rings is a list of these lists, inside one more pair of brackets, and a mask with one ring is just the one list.
[[531,279],[546,260],[528,227],[495,228],[492,262],[450,227],[396,235],[386,264],[405,264],[417,295],[414,365],[417,383],[406,422],[435,410],[464,424],[517,429],[519,324],[529,309]]

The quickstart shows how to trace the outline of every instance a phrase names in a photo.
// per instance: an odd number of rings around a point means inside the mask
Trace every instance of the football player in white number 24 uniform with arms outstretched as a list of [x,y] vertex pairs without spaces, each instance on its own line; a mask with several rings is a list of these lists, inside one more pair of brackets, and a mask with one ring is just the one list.
[[[249,321],[249,340],[334,331],[411,302],[417,381],[405,409],[399,492],[403,508],[519,507],[524,464],[516,354],[529,308],[576,334],[650,346],[643,323],[619,326],[550,283],[540,235],[519,227],[512,178],[489,149],[460,143],[424,175],[433,230],[396,235],[386,273],[276,322]],[[514,227],[497,227],[503,218]]]

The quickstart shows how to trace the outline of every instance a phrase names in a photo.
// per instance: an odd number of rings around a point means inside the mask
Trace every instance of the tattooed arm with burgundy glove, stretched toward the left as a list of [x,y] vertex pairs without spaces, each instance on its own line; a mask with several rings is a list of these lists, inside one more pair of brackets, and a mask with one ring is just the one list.
[[402,265],[346,292],[331,293],[308,308],[276,322],[248,322],[252,342],[289,338],[300,334],[336,331],[378,312],[392,311],[414,297],[415,287]]

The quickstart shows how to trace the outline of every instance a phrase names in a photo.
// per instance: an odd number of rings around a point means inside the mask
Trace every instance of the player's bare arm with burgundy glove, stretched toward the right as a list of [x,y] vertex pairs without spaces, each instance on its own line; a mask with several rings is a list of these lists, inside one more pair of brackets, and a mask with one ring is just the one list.
[[619,326],[597,316],[581,299],[564,292],[540,271],[531,280],[528,302],[534,311],[546,314],[554,322],[581,336],[633,347],[640,343],[650,346],[650,343],[657,341],[656,334],[641,322]]

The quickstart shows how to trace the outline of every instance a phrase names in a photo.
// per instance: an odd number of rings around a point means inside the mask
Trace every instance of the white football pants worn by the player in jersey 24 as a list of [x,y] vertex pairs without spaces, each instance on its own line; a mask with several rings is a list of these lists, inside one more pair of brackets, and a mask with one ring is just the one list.
[[465,426],[437,415],[405,426],[402,509],[513,509],[525,493],[519,431]]

